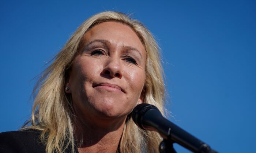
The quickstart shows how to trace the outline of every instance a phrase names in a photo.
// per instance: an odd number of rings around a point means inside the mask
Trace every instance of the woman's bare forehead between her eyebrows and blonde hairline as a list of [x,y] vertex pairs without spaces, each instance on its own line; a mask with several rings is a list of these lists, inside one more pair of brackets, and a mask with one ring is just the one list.
[[100,23],[91,28],[83,37],[83,44],[93,40],[108,40],[113,45],[125,45],[137,48],[146,56],[146,50],[137,34],[131,27],[117,21],[108,21]]

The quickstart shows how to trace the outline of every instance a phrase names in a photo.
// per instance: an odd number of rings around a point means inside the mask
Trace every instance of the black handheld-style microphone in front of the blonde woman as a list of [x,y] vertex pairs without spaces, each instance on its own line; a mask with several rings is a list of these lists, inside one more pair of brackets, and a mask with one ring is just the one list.
[[154,105],[142,103],[132,111],[132,119],[140,128],[158,132],[164,139],[176,142],[196,153],[217,153],[207,144],[167,120]]

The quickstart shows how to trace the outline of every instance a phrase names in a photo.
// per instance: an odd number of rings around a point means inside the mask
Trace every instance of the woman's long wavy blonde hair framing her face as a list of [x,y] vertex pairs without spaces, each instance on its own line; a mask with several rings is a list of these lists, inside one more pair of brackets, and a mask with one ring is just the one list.
[[[79,50],[83,36],[93,26],[106,22],[117,21],[128,25],[138,35],[147,51],[146,82],[143,88],[144,103],[158,107],[163,113],[165,87],[163,69],[159,57],[159,47],[150,31],[137,20],[121,12],[106,11],[91,16],[71,36],[62,50],[54,57],[52,64],[42,72],[34,87],[34,104],[31,119],[25,123],[22,130],[36,129],[41,131],[41,141],[46,146],[46,152],[64,152],[71,148],[75,152],[74,136],[75,115],[72,101],[65,94],[65,76]],[[127,118],[119,144],[121,153],[158,152],[162,138],[158,133],[144,131]]]

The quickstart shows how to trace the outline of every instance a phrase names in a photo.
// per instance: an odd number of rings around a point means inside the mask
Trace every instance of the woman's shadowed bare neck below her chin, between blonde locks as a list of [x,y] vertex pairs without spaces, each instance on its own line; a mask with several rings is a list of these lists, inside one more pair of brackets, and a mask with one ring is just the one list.
[[[78,116],[78,118],[80,117]],[[75,136],[79,143],[79,153],[116,152],[123,133],[125,119],[126,117],[116,121],[104,119],[102,122],[78,119],[75,122]]]

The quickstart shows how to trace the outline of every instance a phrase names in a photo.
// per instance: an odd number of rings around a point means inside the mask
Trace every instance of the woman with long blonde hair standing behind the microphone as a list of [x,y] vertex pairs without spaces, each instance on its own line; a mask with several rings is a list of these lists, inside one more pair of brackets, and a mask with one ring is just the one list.
[[31,119],[15,134],[37,133],[48,153],[158,152],[159,134],[139,129],[130,113],[139,103],[163,111],[159,48],[139,21],[123,13],[87,19],[34,92]]

